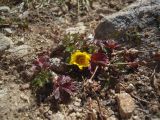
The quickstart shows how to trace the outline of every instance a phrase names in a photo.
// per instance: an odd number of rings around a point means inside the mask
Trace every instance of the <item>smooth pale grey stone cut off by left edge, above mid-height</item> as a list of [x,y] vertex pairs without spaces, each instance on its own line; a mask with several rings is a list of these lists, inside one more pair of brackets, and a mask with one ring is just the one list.
[[0,54],[2,54],[6,49],[10,48],[12,45],[12,40],[0,33]]

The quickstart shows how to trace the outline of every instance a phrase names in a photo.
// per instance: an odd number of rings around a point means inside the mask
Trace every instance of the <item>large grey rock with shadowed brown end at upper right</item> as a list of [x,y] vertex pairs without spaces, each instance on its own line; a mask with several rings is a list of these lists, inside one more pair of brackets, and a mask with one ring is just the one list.
[[108,15],[95,30],[96,39],[119,38],[126,29],[156,23],[160,16],[160,0],[137,0],[125,9]]

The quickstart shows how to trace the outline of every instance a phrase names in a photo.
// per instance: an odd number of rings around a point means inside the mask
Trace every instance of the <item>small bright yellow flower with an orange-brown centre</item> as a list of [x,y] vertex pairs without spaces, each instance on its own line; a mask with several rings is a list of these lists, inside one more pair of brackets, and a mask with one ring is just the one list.
[[70,64],[77,65],[79,69],[90,66],[91,55],[77,50],[71,55]]

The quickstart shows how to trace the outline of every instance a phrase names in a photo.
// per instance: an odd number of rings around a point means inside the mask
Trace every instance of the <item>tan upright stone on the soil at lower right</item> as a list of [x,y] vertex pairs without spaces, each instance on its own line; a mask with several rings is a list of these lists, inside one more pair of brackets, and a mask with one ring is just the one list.
[[120,116],[122,118],[130,118],[135,109],[133,98],[128,93],[123,92],[116,95],[116,100],[118,102]]

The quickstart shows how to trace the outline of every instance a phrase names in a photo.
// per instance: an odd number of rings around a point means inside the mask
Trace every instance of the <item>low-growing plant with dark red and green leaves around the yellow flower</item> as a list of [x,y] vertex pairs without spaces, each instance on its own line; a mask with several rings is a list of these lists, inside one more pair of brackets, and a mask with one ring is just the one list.
[[[38,55],[33,62],[35,77],[32,80],[36,90],[50,84],[48,97],[58,101],[63,100],[64,94],[71,96],[77,90],[86,96],[91,93],[101,96],[119,83],[122,74],[128,74],[140,65],[138,50],[122,47],[114,40],[94,40],[84,34],[68,34],[60,47],[63,48],[61,51],[58,46],[58,49]],[[60,69],[62,63],[65,70],[56,73],[53,66]]]

